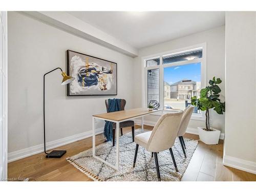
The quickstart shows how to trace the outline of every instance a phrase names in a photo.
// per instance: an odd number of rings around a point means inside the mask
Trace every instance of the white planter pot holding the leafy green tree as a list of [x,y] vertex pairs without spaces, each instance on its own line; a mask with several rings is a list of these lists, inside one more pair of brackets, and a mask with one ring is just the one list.
[[204,129],[204,127],[198,127],[199,138],[202,142],[209,144],[209,145],[219,143],[219,138],[221,135],[221,132],[219,130],[216,130],[211,127],[210,127],[210,129],[214,130],[214,131],[205,131],[203,129]]

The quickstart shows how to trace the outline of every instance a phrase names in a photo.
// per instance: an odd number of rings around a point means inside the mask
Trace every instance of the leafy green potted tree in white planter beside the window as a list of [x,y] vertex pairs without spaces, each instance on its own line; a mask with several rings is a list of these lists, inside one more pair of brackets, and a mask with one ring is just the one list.
[[191,97],[191,104],[199,110],[205,111],[205,127],[198,127],[199,138],[206,144],[218,144],[221,132],[210,127],[209,110],[214,109],[218,114],[225,112],[225,102],[219,99],[221,89],[218,86],[222,81],[220,78],[209,80],[209,86],[200,91],[200,98]]

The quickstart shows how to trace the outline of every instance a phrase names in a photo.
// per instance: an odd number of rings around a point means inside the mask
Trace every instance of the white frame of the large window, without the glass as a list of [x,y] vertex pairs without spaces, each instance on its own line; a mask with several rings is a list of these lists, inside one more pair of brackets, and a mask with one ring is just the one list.
[[[173,63],[168,63],[163,65],[163,57],[166,57],[168,55],[176,55],[183,52],[189,52],[193,50],[201,50],[203,56],[202,58],[195,58],[193,60],[184,60],[184,61],[178,61]],[[151,59],[160,58],[160,65],[158,66],[150,66],[146,67],[146,61]],[[174,67],[174,66],[182,66],[187,65],[189,63],[197,63],[201,62],[201,88],[206,87],[207,85],[207,43],[204,42],[202,44],[197,44],[194,46],[189,46],[181,49],[171,50],[163,53],[158,53],[154,55],[148,55],[141,58],[141,68],[142,68],[142,94],[141,94],[141,103],[142,107],[147,107],[147,70],[153,70],[153,69],[159,69],[159,103],[160,103],[160,109],[164,109],[164,76],[163,71],[166,67]],[[163,113],[168,113],[168,111],[163,111],[159,114],[155,113],[155,115],[162,115]],[[201,112],[200,114],[195,114],[191,116],[191,119],[194,120],[205,120],[204,118],[205,112]]]

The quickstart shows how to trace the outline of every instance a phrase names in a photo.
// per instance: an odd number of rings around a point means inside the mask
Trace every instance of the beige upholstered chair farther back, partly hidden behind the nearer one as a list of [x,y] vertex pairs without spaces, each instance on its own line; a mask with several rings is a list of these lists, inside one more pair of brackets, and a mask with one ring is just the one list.
[[182,119],[180,122],[179,132],[177,135],[180,139],[180,144],[181,144],[182,151],[183,151],[185,158],[186,158],[186,152],[185,152],[186,145],[185,145],[185,142],[183,139],[183,135],[186,132],[187,125],[188,125],[188,122],[189,122],[191,115],[194,111],[194,108],[195,108],[194,106],[187,106],[186,109],[184,110],[184,113],[183,113],[183,116],[182,116]]

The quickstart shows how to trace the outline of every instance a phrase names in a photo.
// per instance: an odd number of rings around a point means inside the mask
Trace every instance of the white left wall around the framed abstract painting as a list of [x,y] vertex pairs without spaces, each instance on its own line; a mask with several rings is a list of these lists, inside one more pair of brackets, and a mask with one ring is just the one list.
[[[117,62],[118,95],[67,97],[66,87],[60,85],[60,72],[49,74],[46,78],[47,141],[90,132],[92,115],[105,112],[104,99],[124,98],[126,108],[132,107],[133,84],[129,82],[133,81],[133,58],[22,13],[8,12],[8,23],[8,152],[11,158],[24,155],[28,147],[42,149],[43,75],[56,67],[67,71],[68,49]],[[102,127],[103,123],[98,122],[97,126]],[[31,152],[31,148],[27,151]]]

